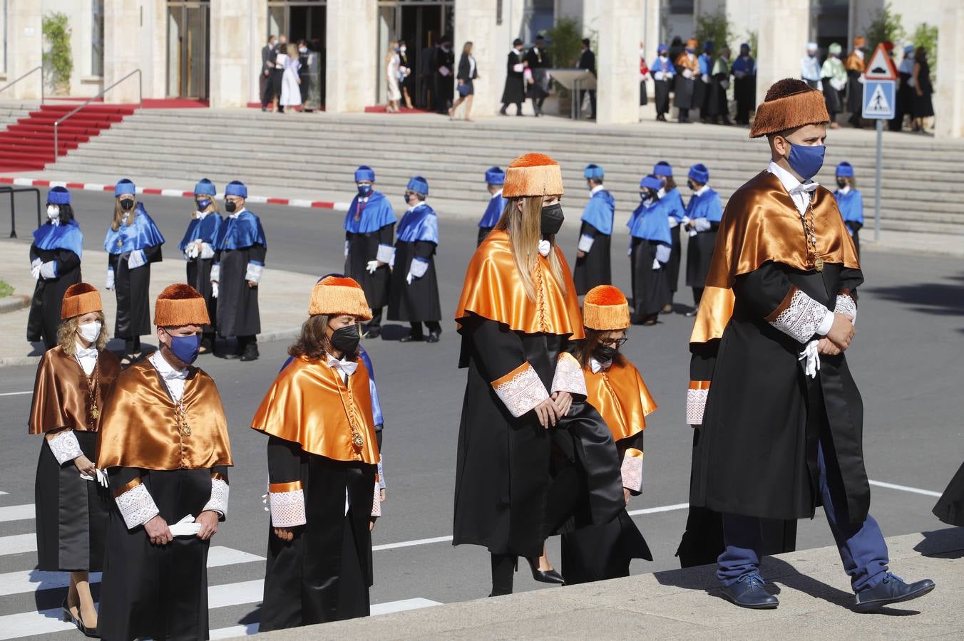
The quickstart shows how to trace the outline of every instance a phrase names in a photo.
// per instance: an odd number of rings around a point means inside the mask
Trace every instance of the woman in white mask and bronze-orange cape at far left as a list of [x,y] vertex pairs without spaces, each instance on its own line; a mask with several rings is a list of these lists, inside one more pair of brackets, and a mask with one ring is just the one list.
[[93,461],[100,412],[120,363],[104,348],[103,305],[93,285],[68,287],[60,314],[59,345],[40,359],[30,408],[29,431],[44,436],[36,481],[38,568],[70,573],[64,620],[96,635],[88,573],[103,567],[113,500]]

